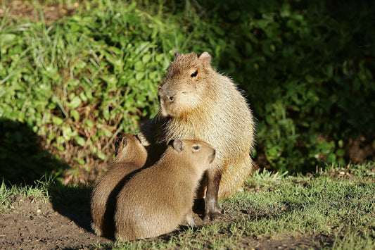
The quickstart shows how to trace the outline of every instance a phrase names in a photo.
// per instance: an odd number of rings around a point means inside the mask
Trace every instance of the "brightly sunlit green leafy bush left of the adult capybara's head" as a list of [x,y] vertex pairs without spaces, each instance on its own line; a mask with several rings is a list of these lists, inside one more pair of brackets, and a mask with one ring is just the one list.
[[[71,165],[104,160],[118,132],[135,132],[157,110],[166,59],[156,53],[151,26],[160,21],[135,4],[115,12],[108,3],[49,27],[6,20],[0,116],[32,127]],[[72,147],[81,151],[74,158],[66,154]]]

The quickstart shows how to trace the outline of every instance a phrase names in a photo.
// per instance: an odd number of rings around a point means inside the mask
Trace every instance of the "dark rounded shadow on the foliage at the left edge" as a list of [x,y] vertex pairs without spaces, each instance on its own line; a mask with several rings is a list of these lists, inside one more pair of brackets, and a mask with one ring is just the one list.
[[0,118],[0,178],[15,185],[34,185],[44,175],[62,173],[70,166],[42,148],[26,123]]

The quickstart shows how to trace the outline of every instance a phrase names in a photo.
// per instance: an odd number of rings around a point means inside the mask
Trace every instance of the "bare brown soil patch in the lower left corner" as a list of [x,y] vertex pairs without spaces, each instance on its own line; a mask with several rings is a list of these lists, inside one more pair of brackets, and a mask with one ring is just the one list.
[[53,209],[51,202],[15,197],[0,220],[0,249],[84,249],[90,244],[109,242],[89,231],[88,208],[77,206],[75,221]]

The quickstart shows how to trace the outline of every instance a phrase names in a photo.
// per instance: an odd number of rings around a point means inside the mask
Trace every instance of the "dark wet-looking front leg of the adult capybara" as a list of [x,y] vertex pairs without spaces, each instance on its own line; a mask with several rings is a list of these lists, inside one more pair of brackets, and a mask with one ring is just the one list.
[[218,170],[208,170],[207,192],[205,194],[205,220],[216,220],[222,217],[222,211],[217,205],[217,194],[219,192],[222,174]]

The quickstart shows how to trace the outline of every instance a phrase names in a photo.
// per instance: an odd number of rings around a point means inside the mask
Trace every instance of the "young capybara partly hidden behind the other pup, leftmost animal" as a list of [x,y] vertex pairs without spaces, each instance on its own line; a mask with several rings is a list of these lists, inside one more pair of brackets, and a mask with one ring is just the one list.
[[91,194],[92,229],[96,235],[113,237],[116,196],[129,173],[143,167],[147,151],[139,139],[126,134],[117,146],[115,160],[96,183]]

